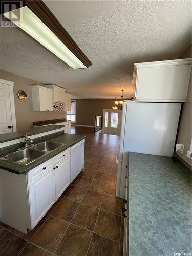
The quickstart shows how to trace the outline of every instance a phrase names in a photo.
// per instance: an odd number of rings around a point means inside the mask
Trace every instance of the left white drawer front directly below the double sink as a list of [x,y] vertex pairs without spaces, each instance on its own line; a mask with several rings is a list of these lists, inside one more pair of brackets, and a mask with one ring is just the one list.
[[27,173],[27,183],[29,184],[36,178],[38,178],[40,175],[44,174],[47,172],[47,170],[52,166],[52,160],[48,160],[45,163],[42,163],[41,165],[37,166],[36,168],[30,170]]

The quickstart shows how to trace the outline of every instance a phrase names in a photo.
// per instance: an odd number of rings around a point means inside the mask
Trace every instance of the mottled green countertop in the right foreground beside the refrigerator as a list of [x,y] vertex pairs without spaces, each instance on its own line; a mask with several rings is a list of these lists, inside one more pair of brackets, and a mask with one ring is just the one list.
[[129,255],[191,253],[191,176],[170,157],[129,152]]

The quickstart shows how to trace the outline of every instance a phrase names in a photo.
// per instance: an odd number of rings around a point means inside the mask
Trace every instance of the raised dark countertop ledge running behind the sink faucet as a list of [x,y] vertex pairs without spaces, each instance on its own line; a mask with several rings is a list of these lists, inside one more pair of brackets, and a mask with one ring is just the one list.
[[34,135],[34,134],[38,134],[38,133],[49,132],[49,131],[59,129],[59,128],[63,128],[63,127],[64,126],[62,126],[62,125],[48,125],[48,126],[45,126],[45,127],[37,127],[37,128],[29,129],[29,130],[24,130],[24,131],[0,134],[0,143],[22,138],[27,133],[29,133],[30,135]]

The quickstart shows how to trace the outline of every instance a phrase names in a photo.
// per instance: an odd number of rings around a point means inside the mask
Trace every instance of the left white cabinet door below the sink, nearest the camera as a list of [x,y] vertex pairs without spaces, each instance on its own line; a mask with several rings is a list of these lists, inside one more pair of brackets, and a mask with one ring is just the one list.
[[44,175],[28,185],[31,213],[31,228],[44,217],[55,202],[55,178],[51,167]]

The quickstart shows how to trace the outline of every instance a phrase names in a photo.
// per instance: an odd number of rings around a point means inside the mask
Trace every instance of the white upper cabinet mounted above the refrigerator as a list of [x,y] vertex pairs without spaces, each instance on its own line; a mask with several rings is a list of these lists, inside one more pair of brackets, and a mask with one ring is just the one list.
[[191,59],[136,63],[133,98],[143,102],[185,102]]

